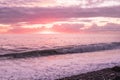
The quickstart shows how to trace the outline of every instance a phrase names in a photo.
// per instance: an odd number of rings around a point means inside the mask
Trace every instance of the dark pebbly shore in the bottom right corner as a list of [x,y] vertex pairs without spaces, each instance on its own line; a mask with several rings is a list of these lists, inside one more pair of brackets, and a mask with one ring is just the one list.
[[58,80],[120,80],[120,66],[65,77]]

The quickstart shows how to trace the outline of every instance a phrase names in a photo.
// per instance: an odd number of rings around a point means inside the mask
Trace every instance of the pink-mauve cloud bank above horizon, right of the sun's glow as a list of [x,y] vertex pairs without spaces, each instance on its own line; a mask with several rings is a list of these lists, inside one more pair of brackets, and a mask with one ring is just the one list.
[[91,26],[85,26],[84,24],[61,24],[54,25],[52,31],[61,33],[104,33],[104,32],[120,32],[120,25],[107,23],[103,26],[92,24]]

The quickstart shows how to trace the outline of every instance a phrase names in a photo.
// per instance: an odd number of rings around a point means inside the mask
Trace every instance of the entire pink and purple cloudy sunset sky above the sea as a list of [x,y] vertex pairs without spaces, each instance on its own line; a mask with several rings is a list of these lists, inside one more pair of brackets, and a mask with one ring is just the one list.
[[120,32],[120,0],[0,0],[0,34]]

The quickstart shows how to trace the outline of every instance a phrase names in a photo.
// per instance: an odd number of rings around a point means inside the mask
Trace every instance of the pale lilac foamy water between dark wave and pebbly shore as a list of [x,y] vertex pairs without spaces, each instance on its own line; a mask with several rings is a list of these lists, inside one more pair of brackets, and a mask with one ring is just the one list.
[[0,61],[1,80],[54,80],[120,65],[120,50]]

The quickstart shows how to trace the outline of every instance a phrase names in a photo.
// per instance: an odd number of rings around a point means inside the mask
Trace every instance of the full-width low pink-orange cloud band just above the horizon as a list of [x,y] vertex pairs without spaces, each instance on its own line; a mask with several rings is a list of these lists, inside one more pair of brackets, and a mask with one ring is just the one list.
[[[34,25],[33,25],[34,26]],[[35,25],[36,26],[36,25]],[[28,33],[40,33],[44,31],[53,31],[57,33],[104,33],[104,32],[120,32],[120,25],[114,23],[107,23],[106,25],[91,24],[86,26],[85,24],[54,24],[52,27],[47,28],[46,26],[26,27],[24,25],[12,25],[12,26],[1,26],[0,33],[8,34],[28,34]]]

